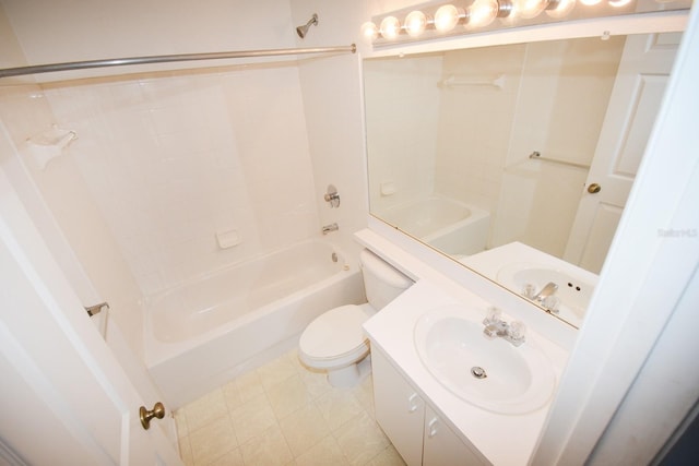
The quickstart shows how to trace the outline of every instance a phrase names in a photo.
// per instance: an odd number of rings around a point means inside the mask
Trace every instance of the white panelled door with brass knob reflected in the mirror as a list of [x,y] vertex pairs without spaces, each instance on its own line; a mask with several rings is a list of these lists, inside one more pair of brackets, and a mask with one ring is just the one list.
[[666,33],[626,39],[566,247],[566,261],[600,273],[645,151],[680,37],[682,33]]

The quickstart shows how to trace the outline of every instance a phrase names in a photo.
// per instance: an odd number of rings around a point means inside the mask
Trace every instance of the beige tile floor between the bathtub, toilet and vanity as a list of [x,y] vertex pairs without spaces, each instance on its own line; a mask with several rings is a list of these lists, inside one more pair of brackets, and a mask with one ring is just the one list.
[[404,465],[374,419],[371,377],[331,386],[296,350],[175,413],[190,466]]

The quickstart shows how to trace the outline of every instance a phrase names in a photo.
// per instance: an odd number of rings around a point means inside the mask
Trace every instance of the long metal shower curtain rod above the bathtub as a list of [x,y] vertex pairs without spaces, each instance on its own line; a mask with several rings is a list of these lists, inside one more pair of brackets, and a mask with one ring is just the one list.
[[354,53],[357,47],[316,47],[316,48],[282,48],[270,50],[242,50],[242,51],[221,51],[208,53],[180,53],[159,55],[151,57],[115,58],[108,60],[73,61],[68,63],[36,64],[32,67],[5,68],[0,70],[0,77],[22,76],[26,74],[50,73],[54,71],[84,70],[88,68],[123,67],[128,64],[168,63],[173,61],[196,61],[196,60],[222,60],[227,58],[251,58],[251,57],[277,57],[286,55],[307,53],[332,53],[351,52]]

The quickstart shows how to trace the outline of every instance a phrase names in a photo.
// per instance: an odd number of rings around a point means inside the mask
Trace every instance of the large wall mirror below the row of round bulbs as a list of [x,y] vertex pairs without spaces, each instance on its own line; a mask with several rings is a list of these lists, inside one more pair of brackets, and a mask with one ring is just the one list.
[[679,38],[365,59],[371,215],[578,326]]

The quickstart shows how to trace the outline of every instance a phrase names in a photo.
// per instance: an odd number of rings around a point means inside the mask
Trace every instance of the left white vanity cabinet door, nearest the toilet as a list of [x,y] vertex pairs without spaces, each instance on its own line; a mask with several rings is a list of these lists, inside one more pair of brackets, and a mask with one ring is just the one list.
[[425,402],[375,348],[371,368],[377,422],[408,466],[422,465]]

